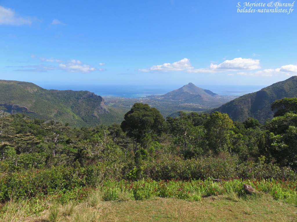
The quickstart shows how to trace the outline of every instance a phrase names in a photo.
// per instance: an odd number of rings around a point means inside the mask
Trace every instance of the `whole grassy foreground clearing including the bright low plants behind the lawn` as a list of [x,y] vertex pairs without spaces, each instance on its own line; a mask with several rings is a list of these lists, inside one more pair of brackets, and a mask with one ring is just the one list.
[[296,190],[296,181],[106,181],[75,196],[7,202],[0,222],[297,221]]

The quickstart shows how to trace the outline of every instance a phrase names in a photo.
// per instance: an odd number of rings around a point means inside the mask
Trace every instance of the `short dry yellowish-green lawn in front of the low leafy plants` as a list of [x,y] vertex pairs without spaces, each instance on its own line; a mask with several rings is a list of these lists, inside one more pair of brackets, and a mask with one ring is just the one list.
[[[74,221],[296,221],[297,208],[277,202],[269,194],[256,199],[228,200],[224,195],[202,201],[154,197],[143,201],[104,201],[100,208],[89,207],[88,200],[78,203],[77,210],[61,222]],[[26,222],[48,221],[48,211]]]

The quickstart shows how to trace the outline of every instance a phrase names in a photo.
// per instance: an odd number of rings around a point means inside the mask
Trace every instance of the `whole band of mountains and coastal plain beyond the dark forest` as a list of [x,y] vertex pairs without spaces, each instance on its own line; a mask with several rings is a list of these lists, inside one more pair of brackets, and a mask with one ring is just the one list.
[[227,113],[232,120],[244,121],[252,117],[264,123],[274,115],[271,110],[272,102],[284,97],[297,97],[297,76],[232,101],[230,96],[220,96],[193,83],[164,95],[116,98],[116,102],[108,97],[108,108],[101,96],[89,91],[47,90],[33,83],[20,81],[0,80],[0,95],[0,110],[12,114],[26,113],[31,118],[57,120],[79,127],[120,123],[124,113],[135,102],[156,107],[164,117],[180,110],[197,112],[221,105],[212,111]]

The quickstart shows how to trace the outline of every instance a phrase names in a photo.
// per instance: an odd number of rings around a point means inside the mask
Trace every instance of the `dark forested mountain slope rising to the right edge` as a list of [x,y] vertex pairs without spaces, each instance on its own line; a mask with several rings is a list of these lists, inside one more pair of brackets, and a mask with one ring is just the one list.
[[244,121],[252,117],[264,123],[267,118],[273,118],[271,103],[284,97],[297,97],[297,76],[240,96],[212,111],[227,113],[232,120]]

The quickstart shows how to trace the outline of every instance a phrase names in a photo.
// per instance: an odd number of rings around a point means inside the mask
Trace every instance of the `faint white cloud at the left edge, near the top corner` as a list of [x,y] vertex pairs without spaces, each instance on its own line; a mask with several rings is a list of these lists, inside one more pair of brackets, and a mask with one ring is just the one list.
[[0,25],[31,25],[32,19],[20,17],[13,10],[0,6]]

